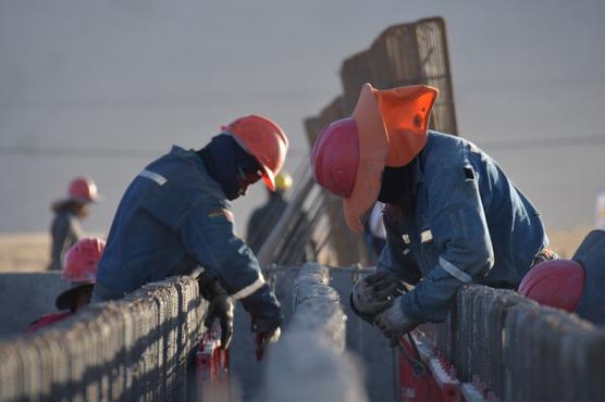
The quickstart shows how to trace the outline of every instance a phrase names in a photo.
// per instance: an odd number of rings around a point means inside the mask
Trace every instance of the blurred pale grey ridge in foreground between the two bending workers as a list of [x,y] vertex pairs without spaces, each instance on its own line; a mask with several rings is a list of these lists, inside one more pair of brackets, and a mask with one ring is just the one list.
[[294,281],[294,316],[273,347],[262,400],[368,401],[358,361],[345,351],[346,316],[330,272],[306,264]]

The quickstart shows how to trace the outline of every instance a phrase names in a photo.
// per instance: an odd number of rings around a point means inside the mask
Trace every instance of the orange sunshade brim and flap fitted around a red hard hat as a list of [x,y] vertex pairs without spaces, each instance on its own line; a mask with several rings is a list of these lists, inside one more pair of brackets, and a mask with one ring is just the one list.
[[359,163],[351,194],[343,199],[350,230],[361,233],[361,216],[380,193],[384,166],[405,166],[427,145],[429,117],[439,91],[418,85],[378,90],[361,88],[351,114],[359,138]]

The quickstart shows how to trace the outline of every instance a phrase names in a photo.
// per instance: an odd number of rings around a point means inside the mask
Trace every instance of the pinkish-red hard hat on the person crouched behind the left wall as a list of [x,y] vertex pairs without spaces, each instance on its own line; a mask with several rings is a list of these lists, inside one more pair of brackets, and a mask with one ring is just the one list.
[[97,277],[97,263],[104,248],[104,240],[95,237],[76,242],[65,254],[63,278],[72,284],[94,284]]

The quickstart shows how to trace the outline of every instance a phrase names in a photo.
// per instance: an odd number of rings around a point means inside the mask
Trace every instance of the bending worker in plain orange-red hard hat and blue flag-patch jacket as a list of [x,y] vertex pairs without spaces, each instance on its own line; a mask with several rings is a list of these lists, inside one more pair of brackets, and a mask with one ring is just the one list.
[[[95,301],[115,300],[140,286],[200,266],[209,315],[229,348],[232,299],[251,316],[259,347],[280,335],[280,303],[257,259],[235,235],[230,201],[263,179],[275,189],[288,139],[272,121],[240,117],[198,151],[174,146],[131,183],[115,213],[99,262]],[[229,297],[227,297],[229,296]]]

